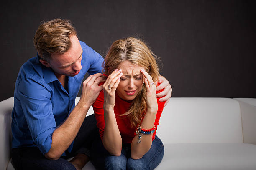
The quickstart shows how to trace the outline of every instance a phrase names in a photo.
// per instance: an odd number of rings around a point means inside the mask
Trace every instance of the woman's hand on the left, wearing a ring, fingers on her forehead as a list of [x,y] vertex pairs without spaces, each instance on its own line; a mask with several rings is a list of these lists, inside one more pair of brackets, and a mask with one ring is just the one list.
[[113,109],[115,106],[115,90],[120,82],[120,77],[123,75],[122,70],[113,71],[103,85],[104,92],[104,109]]

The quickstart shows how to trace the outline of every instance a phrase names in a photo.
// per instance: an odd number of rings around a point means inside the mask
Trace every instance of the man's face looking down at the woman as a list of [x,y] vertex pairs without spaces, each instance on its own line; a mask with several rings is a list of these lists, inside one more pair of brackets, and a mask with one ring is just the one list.
[[71,47],[64,54],[52,54],[51,60],[48,62],[49,67],[58,77],[61,75],[75,76],[82,69],[82,47],[75,35],[70,36]]

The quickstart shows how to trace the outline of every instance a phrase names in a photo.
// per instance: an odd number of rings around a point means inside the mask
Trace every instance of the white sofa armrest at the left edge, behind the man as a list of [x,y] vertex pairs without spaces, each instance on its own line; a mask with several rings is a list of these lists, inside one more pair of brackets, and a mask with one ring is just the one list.
[[10,159],[11,143],[11,114],[13,110],[13,97],[0,102],[0,165],[6,169]]

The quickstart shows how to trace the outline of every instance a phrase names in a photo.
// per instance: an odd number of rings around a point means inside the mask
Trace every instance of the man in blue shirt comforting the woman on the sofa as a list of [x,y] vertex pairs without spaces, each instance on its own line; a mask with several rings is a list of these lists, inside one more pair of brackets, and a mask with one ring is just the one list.
[[[34,37],[38,52],[18,74],[12,113],[12,157],[16,169],[76,170],[88,162],[98,135],[94,115],[86,117],[102,90],[103,58],[79,41],[68,20],[41,24]],[[84,75],[80,101],[74,106]],[[160,77],[160,95],[171,96]],[[86,118],[85,118],[86,117]],[[68,162],[66,159],[74,158]]]

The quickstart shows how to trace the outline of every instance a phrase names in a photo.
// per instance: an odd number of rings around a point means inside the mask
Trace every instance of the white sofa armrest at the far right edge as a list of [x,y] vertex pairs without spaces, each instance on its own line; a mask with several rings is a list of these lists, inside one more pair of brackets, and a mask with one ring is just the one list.
[[256,144],[256,99],[234,98],[239,102],[243,126],[243,143]]

